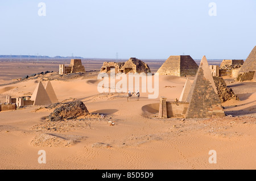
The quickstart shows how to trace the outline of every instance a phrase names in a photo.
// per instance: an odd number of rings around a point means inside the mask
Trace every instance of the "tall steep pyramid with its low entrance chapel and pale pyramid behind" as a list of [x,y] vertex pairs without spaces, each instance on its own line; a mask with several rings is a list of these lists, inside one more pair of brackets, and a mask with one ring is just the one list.
[[201,60],[192,86],[189,83],[189,79],[187,79],[180,96],[180,100],[183,102],[167,102],[166,98],[160,98],[159,117],[212,118],[225,116],[205,56]]

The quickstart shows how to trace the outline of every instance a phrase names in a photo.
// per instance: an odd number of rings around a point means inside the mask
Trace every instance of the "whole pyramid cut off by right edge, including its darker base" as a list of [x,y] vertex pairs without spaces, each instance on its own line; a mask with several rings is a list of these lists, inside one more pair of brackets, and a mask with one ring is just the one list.
[[236,81],[256,81],[256,46],[251,50],[251,53],[241,66]]

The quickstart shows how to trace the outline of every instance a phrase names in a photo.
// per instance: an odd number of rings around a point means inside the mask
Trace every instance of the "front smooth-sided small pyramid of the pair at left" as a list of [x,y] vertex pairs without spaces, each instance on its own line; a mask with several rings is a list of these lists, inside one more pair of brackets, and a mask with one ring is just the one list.
[[36,89],[34,90],[30,100],[34,100],[34,106],[52,104],[51,99],[44,89],[42,82],[38,83],[38,86],[36,86]]

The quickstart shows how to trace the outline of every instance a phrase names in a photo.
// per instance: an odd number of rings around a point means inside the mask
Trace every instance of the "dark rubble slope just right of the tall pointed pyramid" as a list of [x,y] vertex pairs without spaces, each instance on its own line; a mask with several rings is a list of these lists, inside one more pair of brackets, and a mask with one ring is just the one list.
[[218,91],[218,96],[220,97],[222,103],[230,99],[239,100],[238,96],[233,92],[233,90],[226,86],[223,78],[213,77],[213,79]]

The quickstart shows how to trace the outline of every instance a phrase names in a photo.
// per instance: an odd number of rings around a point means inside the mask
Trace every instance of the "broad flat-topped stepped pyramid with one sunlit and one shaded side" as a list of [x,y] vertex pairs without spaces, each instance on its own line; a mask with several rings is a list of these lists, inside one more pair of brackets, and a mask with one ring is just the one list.
[[156,73],[159,75],[196,75],[198,65],[191,56],[170,56]]

